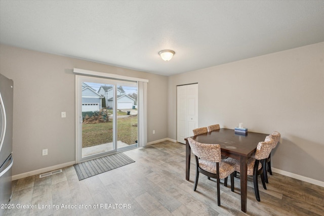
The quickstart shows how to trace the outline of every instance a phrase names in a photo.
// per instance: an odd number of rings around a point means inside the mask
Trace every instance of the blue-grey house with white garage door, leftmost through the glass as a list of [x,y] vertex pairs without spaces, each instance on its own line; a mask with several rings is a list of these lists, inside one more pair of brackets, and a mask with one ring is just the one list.
[[102,108],[101,99],[103,96],[96,93],[94,89],[86,83],[82,83],[82,111],[99,111]]

